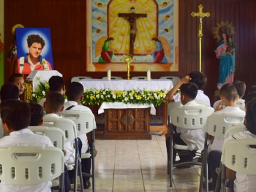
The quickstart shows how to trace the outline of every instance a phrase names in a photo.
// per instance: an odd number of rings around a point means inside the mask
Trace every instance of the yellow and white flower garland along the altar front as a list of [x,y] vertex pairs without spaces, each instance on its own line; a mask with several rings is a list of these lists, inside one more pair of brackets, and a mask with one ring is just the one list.
[[83,93],[83,105],[99,105],[103,102],[124,102],[125,104],[154,104],[159,106],[165,102],[167,90],[152,91],[146,89],[134,89],[129,91],[117,91],[109,88],[96,90],[86,89]]

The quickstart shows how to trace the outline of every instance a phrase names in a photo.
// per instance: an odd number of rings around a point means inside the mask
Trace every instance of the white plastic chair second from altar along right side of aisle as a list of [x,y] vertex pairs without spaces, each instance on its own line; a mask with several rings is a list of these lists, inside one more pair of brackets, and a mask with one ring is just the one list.
[[[207,167],[207,155],[208,155],[208,134],[214,136],[214,138],[225,138],[225,132],[231,126],[235,126],[238,123],[244,123],[244,112],[224,112],[221,114],[213,114],[207,119],[206,124],[206,137],[203,148],[203,164],[201,169],[201,176],[206,175],[206,183],[208,183],[208,167]],[[204,174],[205,173],[205,174]],[[202,191],[203,177],[200,177],[200,188]],[[208,191],[208,185],[206,185],[206,191]]]

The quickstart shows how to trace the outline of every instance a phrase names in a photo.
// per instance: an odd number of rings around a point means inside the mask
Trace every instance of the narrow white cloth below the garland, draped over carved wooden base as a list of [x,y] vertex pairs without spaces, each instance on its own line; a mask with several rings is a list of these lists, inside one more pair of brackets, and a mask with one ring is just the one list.
[[156,115],[156,109],[154,108],[154,104],[125,104],[123,102],[115,102],[115,103],[107,103],[103,102],[99,107],[98,114],[104,112],[105,109],[128,109],[128,108],[149,108],[150,114]]

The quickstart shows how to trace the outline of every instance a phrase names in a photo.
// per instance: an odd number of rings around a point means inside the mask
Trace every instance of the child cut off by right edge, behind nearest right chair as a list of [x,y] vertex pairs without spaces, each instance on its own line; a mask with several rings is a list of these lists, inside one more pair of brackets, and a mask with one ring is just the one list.
[[[232,139],[256,139],[256,100],[252,99],[246,103],[246,116],[244,119],[244,125],[246,131],[233,134],[225,139],[225,142]],[[226,178],[228,180],[234,180],[234,191],[256,191],[256,175],[244,174],[234,172],[231,169],[226,168]]]

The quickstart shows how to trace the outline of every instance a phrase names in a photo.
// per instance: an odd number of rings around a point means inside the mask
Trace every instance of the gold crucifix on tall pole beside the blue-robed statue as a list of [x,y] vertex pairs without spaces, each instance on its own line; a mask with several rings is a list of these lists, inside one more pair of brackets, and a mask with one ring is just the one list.
[[198,37],[199,37],[199,71],[202,70],[202,37],[203,37],[203,21],[202,18],[204,17],[210,17],[209,12],[203,12],[203,5],[200,4],[198,6],[199,12],[192,12],[192,17],[198,17],[200,19],[199,23],[199,31],[198,31]]

